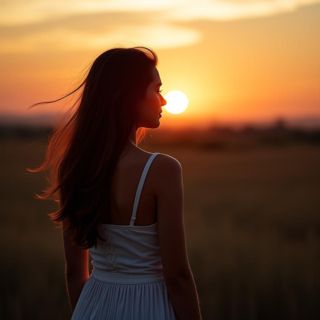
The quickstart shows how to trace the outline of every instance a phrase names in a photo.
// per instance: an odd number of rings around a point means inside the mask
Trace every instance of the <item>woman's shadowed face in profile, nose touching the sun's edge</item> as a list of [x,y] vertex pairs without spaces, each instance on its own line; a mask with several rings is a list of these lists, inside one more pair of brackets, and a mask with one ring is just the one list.
[[160,125],[160,112],[162,106],[167,104],[161,95],[160,87],[162,85],[159,72],[155,66],[151,70],[153,81],[148,85],[144,99],[141,102],[140,117],[138,127],[155,129]]

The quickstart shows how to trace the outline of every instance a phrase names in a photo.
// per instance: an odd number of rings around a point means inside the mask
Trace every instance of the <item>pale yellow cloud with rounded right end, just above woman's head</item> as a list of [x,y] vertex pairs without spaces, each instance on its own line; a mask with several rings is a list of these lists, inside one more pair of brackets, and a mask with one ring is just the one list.
[[195,44],[201,38],[201,33],[192,28],[159,21],[151,13],[141,12],[86,13],[0,27],[2,53],[103,50],[126,41],[169,49]]

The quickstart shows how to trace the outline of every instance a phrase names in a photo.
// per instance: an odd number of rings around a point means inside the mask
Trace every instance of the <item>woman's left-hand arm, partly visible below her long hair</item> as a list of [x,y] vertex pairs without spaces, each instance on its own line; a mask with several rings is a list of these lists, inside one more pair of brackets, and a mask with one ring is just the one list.
[[[64,230],[64,223],[62,222]],[[82,288],[89,278],[89,251],[71,244],[69,230],[63,232],[62,241],[66,260],[66,282],[71,311],[76,308],[76,303]]]

